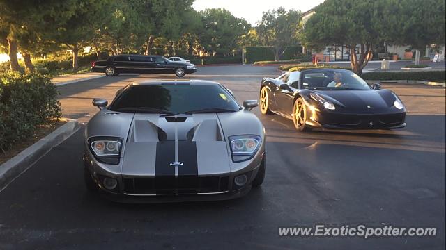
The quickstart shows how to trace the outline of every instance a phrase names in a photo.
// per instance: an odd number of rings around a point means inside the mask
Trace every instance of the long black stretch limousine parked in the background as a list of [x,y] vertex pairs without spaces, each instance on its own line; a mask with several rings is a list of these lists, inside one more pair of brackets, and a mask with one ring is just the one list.
[[182,77],[197,72],[197,67],[191,63],[174,62],[164,56],[118,55],[93,62],[91,70],[105,73],[106,76],[118,76],[120,73],[153,73],[176,74]]

